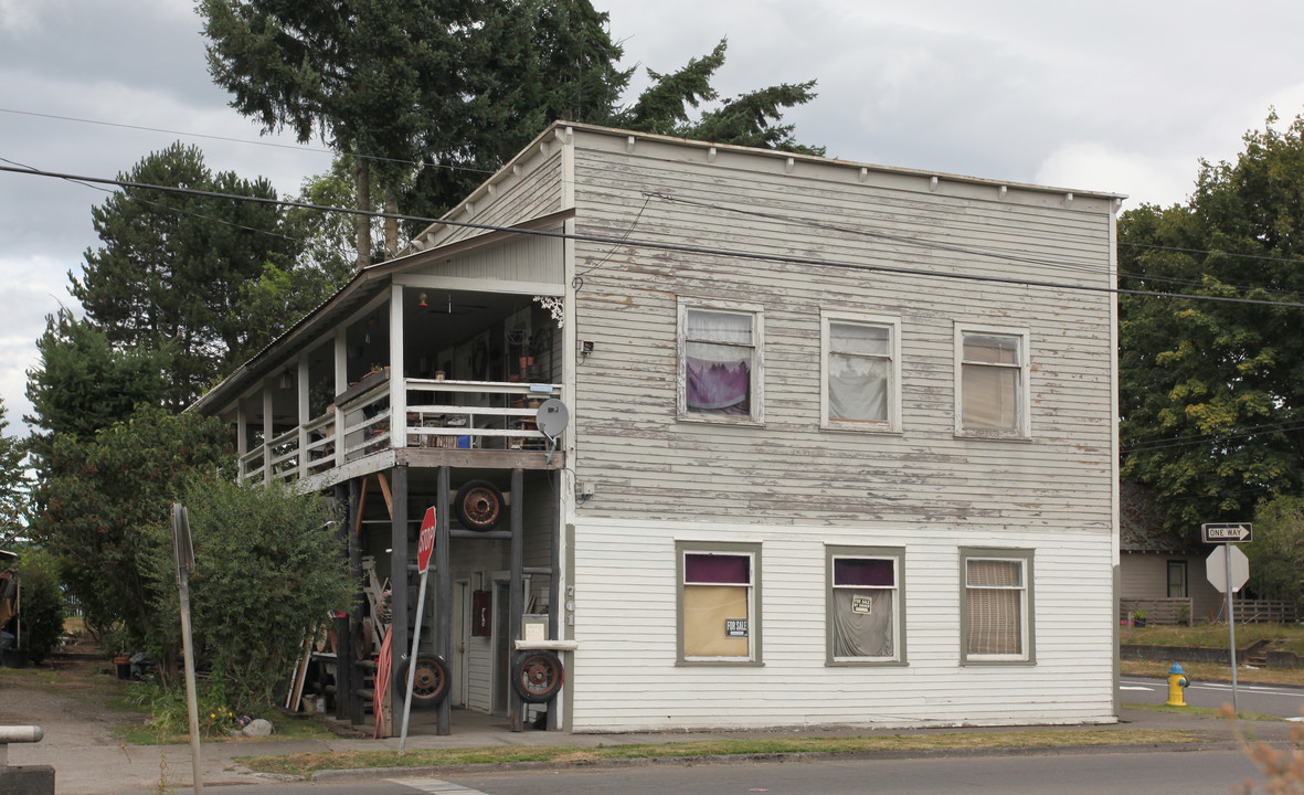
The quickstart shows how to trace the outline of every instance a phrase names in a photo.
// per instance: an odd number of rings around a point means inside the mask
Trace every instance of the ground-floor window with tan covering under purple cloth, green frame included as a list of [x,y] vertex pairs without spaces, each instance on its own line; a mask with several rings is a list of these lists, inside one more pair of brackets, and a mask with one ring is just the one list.
[[760,662],[760,545],[678,542],[679,662]]

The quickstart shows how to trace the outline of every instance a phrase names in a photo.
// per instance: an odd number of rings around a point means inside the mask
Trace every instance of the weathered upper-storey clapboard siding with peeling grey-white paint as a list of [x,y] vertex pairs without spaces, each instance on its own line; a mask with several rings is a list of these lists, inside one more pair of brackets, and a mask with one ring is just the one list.
[[[578,141],[576,231],[631,241],[576,244],[576,334],[597,351],[576,368],[576,476],[597,489],[579,513],[1112,528],[1111,295],[867,270],[1108,288],[1107,201],[996,201],[995,188],[975,201],[932,193],[925,177],[874,186],[805,163],[789,176]],[[762,306],[764,426],[675,418],[681,298]],[[822,310],[898,318],[901,433],[820,430]],[[957,323],[1028,330],[1030,441],[955,437]]]

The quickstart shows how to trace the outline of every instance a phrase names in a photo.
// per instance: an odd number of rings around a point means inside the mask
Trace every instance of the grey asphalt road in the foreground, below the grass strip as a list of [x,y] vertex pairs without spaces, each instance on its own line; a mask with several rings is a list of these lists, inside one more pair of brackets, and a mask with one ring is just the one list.
[[[222,787],[223,795],[1227,795],[1253,777],[1234,751],[1060,753],[921,760],[644,765],[619,769],[520,770],[349,783]],[[179,790],[186,792],[188,790]]]

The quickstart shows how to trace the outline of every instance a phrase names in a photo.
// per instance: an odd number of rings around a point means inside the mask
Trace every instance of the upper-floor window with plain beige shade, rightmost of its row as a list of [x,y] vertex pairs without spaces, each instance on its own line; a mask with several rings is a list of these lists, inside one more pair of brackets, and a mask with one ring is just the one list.
[[1026,438],[1028,332],[956,328],[956,433]]

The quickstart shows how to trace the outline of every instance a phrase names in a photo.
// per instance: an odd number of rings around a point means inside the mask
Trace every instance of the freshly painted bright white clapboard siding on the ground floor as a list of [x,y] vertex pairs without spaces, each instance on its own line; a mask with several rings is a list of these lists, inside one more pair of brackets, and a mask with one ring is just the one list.
[[[762,545],[763,667],[674,665],[675,540]],[[905,550],[906,666],[824,665],[825,543]],[[1034,550],[1035,666],[960,665],[960,546]],[[600,519],[576,525],[574,554],[576,731],[1111,719],[1112,573],[1098,537]]]

